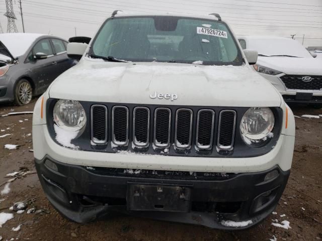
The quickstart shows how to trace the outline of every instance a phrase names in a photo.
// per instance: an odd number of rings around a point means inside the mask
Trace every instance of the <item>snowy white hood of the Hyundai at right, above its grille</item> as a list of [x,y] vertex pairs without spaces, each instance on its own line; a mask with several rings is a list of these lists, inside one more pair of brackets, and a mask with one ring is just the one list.
[[322,59],[258,56],[257,64],[286,74],[322,75]]

